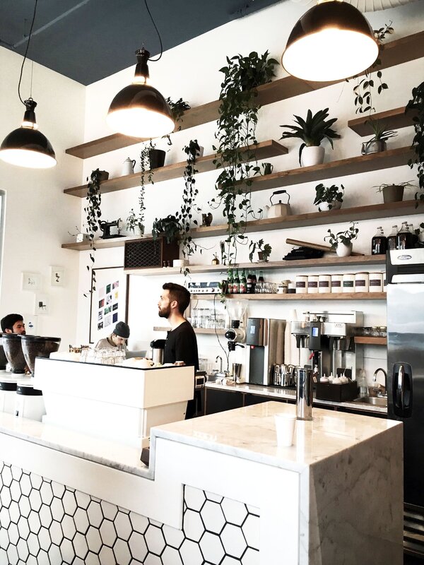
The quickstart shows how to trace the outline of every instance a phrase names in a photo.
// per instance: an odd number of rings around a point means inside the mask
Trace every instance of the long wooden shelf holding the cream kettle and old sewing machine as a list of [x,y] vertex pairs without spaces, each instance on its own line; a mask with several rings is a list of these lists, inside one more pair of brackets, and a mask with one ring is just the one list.
[[[340,210],[330,210],[329,212],[309,212],[305,214],[293,214],[285,216],[283,219],[266,218],[264,220],[252,220],[246,222],[246,233],[269,232],[272,230],[285,230],[294,227],[327,225],[340,222],[351,222],[352,220],[377,220],[379,218],[396,218],[398,216],[408,214],[423,214],[424,208],[416,207],[415,200],[406,200],[402,202],[391,202],[388,204],[370,204],[368,206],[354,206],[353,208],[341,208]],[[199,239],[201,237],[222,236],[227,233],[227,225],[211,225],[208,227],[194,227],[192,229],[192,237]],[[146,234],[145,237],[151,237]],[[112,239],[95,239],[94,245],[97,249],[106,249],[107,247],[124,246],[126,241],[130,239],[139,239],[137,237],[117,237]],[[62,244],[63,249],[72,249],[73,251],[87,251],[90,249],[88,242],[82,243],[65,243]],[[330,258],[329,258],[330,259]],[[349,261],[355,261],[355,258],[349,257]],[[281,266],[289,266],[283,262]],[[305,261],[302,261],[304,264]],[[293,264],[293,261],[290,261]],[[334,263],[336,264],[336,263]],[[221,266],[222,267],[222,266]],[[196,268],[196,266],[194,266]],[[271,268],[271,267],[269,267]],[[158,269],[152,274],[157,274]],[[175,270],[177,273],[179,269]],[[191,268],[190,268],[191,270]],[[213,269],[211,269],[213,270]],[[220,270],[220,269],[218,269]],[[200,271],[197,271],[200,272]],[[207,272],[207,271],[204,271]],[[141,273],[149,274],[149,273]]]

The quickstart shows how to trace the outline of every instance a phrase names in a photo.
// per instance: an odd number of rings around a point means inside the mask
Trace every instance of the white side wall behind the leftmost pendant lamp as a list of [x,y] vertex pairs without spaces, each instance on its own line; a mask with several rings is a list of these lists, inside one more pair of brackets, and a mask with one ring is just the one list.
[[[20,126],[25,107],[18,98],[22,57],[0,48],[1,140]],[[30,95],[31,61],[25,63],[21,95]],[[62,338],[62,348],[76,335],[78,256],[61,249],[68,230],[79,225],[80,203],[63,194],[81,179],[81,161],[64,150],[83,136],[85,88],[43,66],[34,64],[33,98],[38,103],[37,124],[52,143],[57,167],[37,170],[0,161],[0,189],[6,192],[4,246],[1,265],[1,317],[11,312],[34,313],[33,292],[21,290],[23,271],[39,273],[40,292],[49,297],[49,315],[38,316],[37,333]],[[49,266],[65,269],[64,287],[49,284]],[[29,332],[28,332],[29,333]]]

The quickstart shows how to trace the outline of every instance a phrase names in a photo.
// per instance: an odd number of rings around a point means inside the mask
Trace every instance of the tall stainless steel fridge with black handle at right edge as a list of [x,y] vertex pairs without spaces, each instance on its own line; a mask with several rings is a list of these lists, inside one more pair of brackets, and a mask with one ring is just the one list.
[[424,554],[424,249],[387,252],[387,417],[404,423],[405,546]]

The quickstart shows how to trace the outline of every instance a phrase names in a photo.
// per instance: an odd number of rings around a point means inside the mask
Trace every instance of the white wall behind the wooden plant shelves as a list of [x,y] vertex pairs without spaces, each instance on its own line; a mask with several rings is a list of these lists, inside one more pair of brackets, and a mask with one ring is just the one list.
[[[380,27],[384,23],[393,21],[395,35],[390,39],[394,40],[404,35],[423,30],[423,3],[418,1],[408,6],[401,6],[387,11],[379,11],[367,14],[373,27]],[[163,58],[151,63],[151,79],[153,84],[166,96],[170,95],[173,100],[183,97],[192,106],[201,105],[205,102],[215,100],[220,89],[220,79],[222,75],[218,72],[221,66],[225,65],[225,56],[232,56],[240,52],[248,54],[252,50],[259,53],[269,49],[272,57],[281,58],[281,53],[285,46],[288,34],[298,17],[305,12],[305,8],[290,1],[282,2],[271,8],[266,8],[252,16],[236,20],[212,30],[201,37],[196,37],[187,43],[179,45],[168,52]],[[134,46],[137,47],[137,46]],[[148,46],[146,46],[148,47]],[[423,60],[411,61],[403,66],[394,67],[383,71],[384,81],[389,85],[389,90],[384,95],[376,96],[374,103],[377,112],[384,109],[391,109],[406,104],[409,100],[411,89],[422,80]],[[86,97],[86,137],[85,141],[93,138],[105,136],[110,131],[105,124],[105,115],[110,100],[131,82],[134,73],[134,66],[125,69],[103,81],[99,81],[87,88]],[[278,69],[278,78],[283,76],[283,69]],[[401,76],[401,80],[400,80]],[[355,107],[353,105],[353,84],[339,83],[337,85],[318,90],[315,93],[307,93],[293,97],[289,100],[276,102],[261,109],[257,137],[259,141],[265,139],[278,140],[281,136],[281,128],[278,124],[287,124],[293,120],[293,114],[306,114],[307,109],[311,108],[314,112],[318,109],[329,107],[331,117],[338,117],[337,129],[342,135],[340,141],[336,141],[334,151],[329,148],[326,150],[326,162],[341,159],[343,157],[353,157],[360,154],[360,143],[363,141],[353,131],[347,129],[348,119],[355,117]],[[214,132],[216,124],[214,122],[197,126],[194,129],[175,133],[172,136],[173,145],[167,153],[165,164],[178,162],[184,159],[182,148],[190,139],[197,138],[201,145],[205,146],[205,154],[212,152],[214,143]],[[412,128],[399,131],[399,136],[390,141],[390,147],[396,148],[411,143]],[[82,141],[82,140],[81,140]],[[287,140],[285,145],[289,148],[288,155],[275,157],[271,161],[275,165],[274,172],[298,167],[298,143],[294,140]],[[165,141],[158,141],[158,147],[167,149]],[[141,144],[132,145],[129,148],[117,150],[112,153],[105,153],[85,160],[83,163],[83,179],[90,174],[92,169],[100,167],[107,169],[111,176],[120,174],[122,162],[126,157],[138,159]],[[139,165],[136,171],[139,170]],[[396,182],[412,179],[413,172],[407,167],[396,167],[386,169],[381,172],[370,172],[367,174],[357,174],[349,177],[331,179],[331,184],[342,183],[346,187],[346,197],[343,206],[359,206],[361,204],[379,203],[382,197],[372,188],[373,185],[382,182]],[[213,198],[214,182],[216,172],[208,172],[199,175],[197,180],[200,189],[199,204],[203,204],[204,209],[207,202]],[[288,187],[291,196],[293,213],[312,212],[314,206],[314,186],[316,182]],[[182,196],[182,179],[175,179],[163,182],[158,185],[149,186],[146,189],[146,231],[151,231],[151,224],[155,216],[163,217],[175,212],[179,206]],[[102,199],[102,215],[106,220],[114,220],[119,216],[124,219],[128,215],[131,207],[137,203],[138,188],[127,191],[119,191],[114,194],[107,194]],[[269,201],[271,191],[258,192],[254,194],[253,201],[255,206],[264,206]],[[216,210],[213,213],[214,223],[221,223],[222,213]],[[410,219],[406,217],[405,219]],[[355,251],[370,254],[370,239],[374,234],[377,225],[383,225],[388,232],[393,223],[399,223],[404,218],[396,220],[369,220],[360,222],[360,237],[355,242]],[[411,222],[417,225],[423,221],[423,215],[412,216]],[[334,225],[335,229],[347,227],[346,225]],[[289,250],[290,246],[285,244],[286,237],[296,239],[312,240],[322,242],[326,234],[326,226],[308,228],[298,228],[296,230],[284,230],[283,232],[264,232],[264,234],[254,234],[254,239],[264,237],[273,247],[271,260],[281,259]],[[205,246],[204,254],[195,256],[193,263],[210,263],[214,251],[218,250],[219,238],[201,239],[199,243]],[[240,252],[239,260],[247,260],[247,249]],[[107,249],[97,252],[96,264],[98,266],[122,265],[122,249]],[[87,254],[80,256],[80,290],[89,284],[88,274],[84,269],[87,264]],[[372,270],[372,268],[370,268]],[[341,269],[317,269],[315,272],[337,272]],[[358,269],[360,270],[360,269]],[[379,270],[382,270],[381,268]],[[349,270],[346,269],[346,272]],[[351,270],[350,270],[351,271]],[[308,271],[312,274],[312,271]],[[294,270],[288,271],[289,277],[295,276]],[[271,280],[281,280],[287,278],[285,273],[273,273],[266,275]],[[206,277],[196,276],[194,280],[202,280]],[[218,279],[218,276],[215,277]],[[182,277],[173,278],[176,282],[182,282]],[[160,287],[165,282],[163,277],[142,278],[131,277],[131,295],[129,323],[131,326],[130,345],[138,348],[142,343],[151,340],[153,337],[152,327],[163,325],[156,316],[156,303],[160,294]],[[81,292],[78,295],[81,297]],[[313,305],[313,303],[310,303]],[[329,304],[320,303],[324,309],[326,307],[358,309],[365,312],[365,325],[385,325],[386,311],[384,302],[348,302],[340,303],[339,306],[334,302]],[[255,302],[249,306],[250,316],[273,316],[285,318],[288,316],[290,304],[258,304]],[[86,340],[88,328],[88,306],[82,299],[78,303],[78,340]],[[158,337],[158,336],[155,336]],[[199,351],[202,357],[215,358],[222,354],[216,338],[212,336],[199,336]],[[222,340],[226,346],[225,340]],[[242,355],[238,352],[237,355]],[[384,366],[384,348],[366,347],[367,356],[366,368],[368,375],[372,374],[375,368]]]

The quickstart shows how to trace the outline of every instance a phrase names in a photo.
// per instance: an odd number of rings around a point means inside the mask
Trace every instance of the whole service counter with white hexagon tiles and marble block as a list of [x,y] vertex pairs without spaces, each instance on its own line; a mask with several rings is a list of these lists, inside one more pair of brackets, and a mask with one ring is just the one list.
[[[280,448],[273,415],[294,410],[263,403],[153,428],[149,470],[112,441],[3,417],[11,531],[28,502],[42,524],[34,547],[69,564],[401,565],[401,424],[314,409]],[[0,563],[13,547],[0,535]]]

